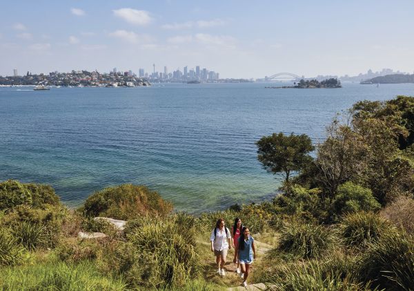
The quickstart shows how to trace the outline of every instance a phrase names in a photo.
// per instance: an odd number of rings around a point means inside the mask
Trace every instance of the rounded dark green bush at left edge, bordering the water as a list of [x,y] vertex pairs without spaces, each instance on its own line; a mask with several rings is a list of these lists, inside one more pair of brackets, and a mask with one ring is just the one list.
[[49,185],[23,184],[17,180],[0,183],[0,210],[10,210],[17,205],[43,208],[59,204],[59,196]]

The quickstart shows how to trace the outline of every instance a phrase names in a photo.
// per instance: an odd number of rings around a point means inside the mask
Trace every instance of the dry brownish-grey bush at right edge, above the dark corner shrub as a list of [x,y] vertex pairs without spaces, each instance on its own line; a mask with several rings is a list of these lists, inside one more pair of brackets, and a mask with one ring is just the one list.
[[408,234],[414,234],[413,198],[398,197],[391,205],[387,205],[382,209],[381,215],[404,229]]

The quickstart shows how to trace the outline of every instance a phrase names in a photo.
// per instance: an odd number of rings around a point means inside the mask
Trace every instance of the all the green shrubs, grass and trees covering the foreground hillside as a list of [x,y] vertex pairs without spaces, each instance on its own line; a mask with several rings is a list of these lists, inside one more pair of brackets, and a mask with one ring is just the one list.
[[[215,275],[208,237],[217,218],[239,217],[257,242],[251,280],[268,290],[412,290],[413,124],[414,97],[398,96],[357,102],[320,144],[265,136],[258,158],[284,175],[279,194],[199,216],[139,185],[68,209],[48,185],[1,182],[1,289],[225,290],[240,281]],[[121,231],[96,216],[127,223]]]

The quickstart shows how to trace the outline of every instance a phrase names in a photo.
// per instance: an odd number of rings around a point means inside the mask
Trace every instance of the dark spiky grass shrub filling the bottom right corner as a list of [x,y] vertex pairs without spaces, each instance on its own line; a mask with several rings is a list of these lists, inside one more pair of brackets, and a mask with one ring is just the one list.
[[414,239],[404,233],[386,234],[359,261],[359,276],[387,290],[413,290]]

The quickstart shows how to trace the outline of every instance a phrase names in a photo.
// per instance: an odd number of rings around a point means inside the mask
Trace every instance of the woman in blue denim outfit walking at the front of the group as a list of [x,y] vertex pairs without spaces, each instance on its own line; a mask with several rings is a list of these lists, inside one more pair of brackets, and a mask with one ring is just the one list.
[[248,227],[243,227],[239,237],[239,246],[236,249],[236,258],[239,259],[242,272],[240,277],[243,279],[244,287],[247,286],[247,277],[250,273],[250,265],[256,259],[255,240],[250,236]]

